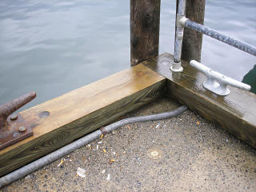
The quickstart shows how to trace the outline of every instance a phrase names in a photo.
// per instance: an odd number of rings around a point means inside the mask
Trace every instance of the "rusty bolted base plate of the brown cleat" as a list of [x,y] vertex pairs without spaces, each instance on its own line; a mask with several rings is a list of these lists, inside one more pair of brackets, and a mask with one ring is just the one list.
[[[24,118],[22,118],[20,114],[17,115],[18,118],[14,121],[10,120],[10,117],[8,117],[6,127],[2,127],[0,132],[0,150],[33,135],[32,129],[26,123]],[[18,129],[21,126],[25,126],[26,131],[20,132]]]

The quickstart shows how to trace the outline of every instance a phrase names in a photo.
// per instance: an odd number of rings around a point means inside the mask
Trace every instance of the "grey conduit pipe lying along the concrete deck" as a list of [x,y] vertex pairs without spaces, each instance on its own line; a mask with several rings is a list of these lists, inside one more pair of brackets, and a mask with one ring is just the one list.
[[131,122],[146,122],[146,121],[154,121],[161,120],[164,118],[172,118],[179,114],[182,114],[187,109],[186,106],[180,106],[176,110],[172,110],[169,112],[165,112],[162,114],[151,114],[134,118],[125,118],[121,121],[114,122],[108,126],[102,127],[101,130],[95,130],[93,133],[86,135],[83,138],[78,139],[75,142],[70,143],[67,146],[63,146],[59,150],[55,150],[51,154],[47,154],[46,156],[39,158],[34,162],[30,162],[30,164],[26,166],[22,166],[18,170],[14,170],[10,174],[6,174],[4,177],[0,178],[0,188],[2,186],[6,186],[10,184],[10,182],[14,182],[19,178],[26,176],[27,174],[32,173],[35,170],[38,170],[42,166],[48,165],[50,162],[54,162],[58,158],[62,158],[66,154],[70,154],[72,151],[77,150],[78,148],[85,146],[87,143],[93,142],[96,138],[99,138],[102,134],[110,133],[112,130],[117,129],[120,126],[126,125]]

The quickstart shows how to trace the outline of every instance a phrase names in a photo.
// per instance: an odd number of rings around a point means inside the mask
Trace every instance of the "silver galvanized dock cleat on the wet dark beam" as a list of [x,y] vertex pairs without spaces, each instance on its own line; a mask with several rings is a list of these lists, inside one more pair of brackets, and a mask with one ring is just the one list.
[[234,78],[226,77],[217,71],[211,70],[209,67],[202,65],[200,62],[192,60],[190,61],[190,65],[206,74],[207,80],[202,85],[206,90],[210,90],[214,94],[222,96],[230,94],[230,90],[228,89],[227,85],[234,86],[242,90],[250,90],[249,85],[238,82],[237,80],[234,80]]

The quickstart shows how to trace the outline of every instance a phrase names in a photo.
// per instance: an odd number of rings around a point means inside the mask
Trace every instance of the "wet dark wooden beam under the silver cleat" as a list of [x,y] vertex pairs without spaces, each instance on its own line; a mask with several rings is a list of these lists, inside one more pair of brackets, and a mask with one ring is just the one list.
[[172,73],[173,59],[162,54],[142,63],[167,78],[167,95],[256,148],[256,95],[230,86],[226,97],[213,94],[202,87],[206,76],[188,62],[182,60],[182,73]]

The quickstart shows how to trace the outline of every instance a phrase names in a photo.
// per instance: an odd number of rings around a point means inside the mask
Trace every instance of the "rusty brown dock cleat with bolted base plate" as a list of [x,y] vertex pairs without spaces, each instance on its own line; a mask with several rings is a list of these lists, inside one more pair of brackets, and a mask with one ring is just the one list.
[[21,114],[13,113],[35,97],[36,94],[30,92],[0,106],[0,150],[33,135]]

